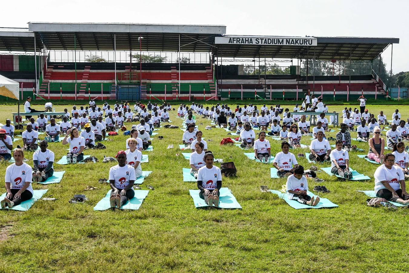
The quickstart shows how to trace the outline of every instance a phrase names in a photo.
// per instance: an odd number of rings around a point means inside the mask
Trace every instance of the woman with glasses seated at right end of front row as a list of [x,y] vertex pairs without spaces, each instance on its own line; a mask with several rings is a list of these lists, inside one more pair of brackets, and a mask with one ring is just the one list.
[[395,156],[392,153],[385,155],[384,164],[376,169],[374,178],[376,197],[402,205],[409,205],[405,176],[402,168],[395,165]]

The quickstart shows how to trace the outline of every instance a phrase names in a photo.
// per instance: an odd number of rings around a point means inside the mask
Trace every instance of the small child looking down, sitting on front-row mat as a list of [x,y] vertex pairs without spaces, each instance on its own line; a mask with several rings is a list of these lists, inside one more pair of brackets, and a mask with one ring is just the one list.
[[317,199],[314,199],[314,196],[311,197],[307,194],[308,182],[307,178],[304,176],[303,166],[296,165],[294,167],[294,174],[288,176],[286,187],[289,199],[297,200],[304,205],[318,205],[319,197],[317,196]]

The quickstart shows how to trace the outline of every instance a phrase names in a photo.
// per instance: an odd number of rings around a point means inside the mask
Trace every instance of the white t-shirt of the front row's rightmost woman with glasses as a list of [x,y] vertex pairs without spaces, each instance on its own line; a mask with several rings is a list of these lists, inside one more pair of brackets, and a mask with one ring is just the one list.
[[375,194],[377,194],[382,189],[386,189],[381,181],[387,181],[387,183],[389,183],[389,186],[391,186],[393,190],[399,190],[399,181],[405,179],[403,170],[396,165],[393,165],[391,169],[388,169],[384,164],[382,164],[380,165],[380,167],[378,167],[378,169],[376,169],[373,176],[375,178]]

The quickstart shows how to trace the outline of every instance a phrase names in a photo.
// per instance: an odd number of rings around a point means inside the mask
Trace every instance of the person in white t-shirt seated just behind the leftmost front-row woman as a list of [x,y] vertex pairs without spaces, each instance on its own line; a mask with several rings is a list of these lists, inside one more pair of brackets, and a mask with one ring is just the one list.
[[42,182],[54,174],[54,153],[47,149],[46,140],[40,141],[40,150],[33,154],[33,182]]

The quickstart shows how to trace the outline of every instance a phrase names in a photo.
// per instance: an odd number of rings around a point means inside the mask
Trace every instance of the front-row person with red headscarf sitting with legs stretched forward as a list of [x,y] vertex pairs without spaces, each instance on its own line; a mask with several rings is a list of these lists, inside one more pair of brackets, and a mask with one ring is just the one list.
[[119,151],[115,156],[118,165],[109,169],[109,185],[111,186],[110,205],[112,207],[121,208],[128,199],[133,199],[135,191],[133,184],[135,183],[135,168],[126,164],[125,151]]

